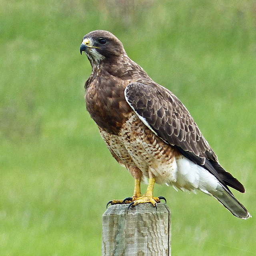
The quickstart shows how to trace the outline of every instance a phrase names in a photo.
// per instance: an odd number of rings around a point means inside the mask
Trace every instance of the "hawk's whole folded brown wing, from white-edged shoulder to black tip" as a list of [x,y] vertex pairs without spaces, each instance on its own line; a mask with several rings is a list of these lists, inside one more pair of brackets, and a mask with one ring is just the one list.
[[244,186],[218,163],[194,119],[168,89],[154,82],[131,83],[124,95],[142,122],[186,158],[211,172],[222,184],[245,192]]

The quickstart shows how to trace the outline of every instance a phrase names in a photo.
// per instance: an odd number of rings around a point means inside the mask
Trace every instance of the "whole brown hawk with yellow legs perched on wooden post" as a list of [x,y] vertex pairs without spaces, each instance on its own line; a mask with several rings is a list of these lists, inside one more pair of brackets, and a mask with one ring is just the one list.
[[153,197],[154,183],[165,183],[212,194],[234,216],[250,217],[228,188],[244,193],[244,186],[219,164],[186,107],[127,56],[116,36],[92,31],[83,38],[82,52],[92,66],[85,83],[87,110],[112,156],[135,179],[134,195],[124,202],[156,206],[162,198]]

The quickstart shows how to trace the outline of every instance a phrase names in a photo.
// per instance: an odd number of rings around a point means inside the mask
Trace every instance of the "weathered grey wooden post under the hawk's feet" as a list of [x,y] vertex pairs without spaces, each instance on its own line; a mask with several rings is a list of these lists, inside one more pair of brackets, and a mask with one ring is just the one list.
[[170,256],[171,212],[166,204],[111,205],[102,216],[102,256]]

